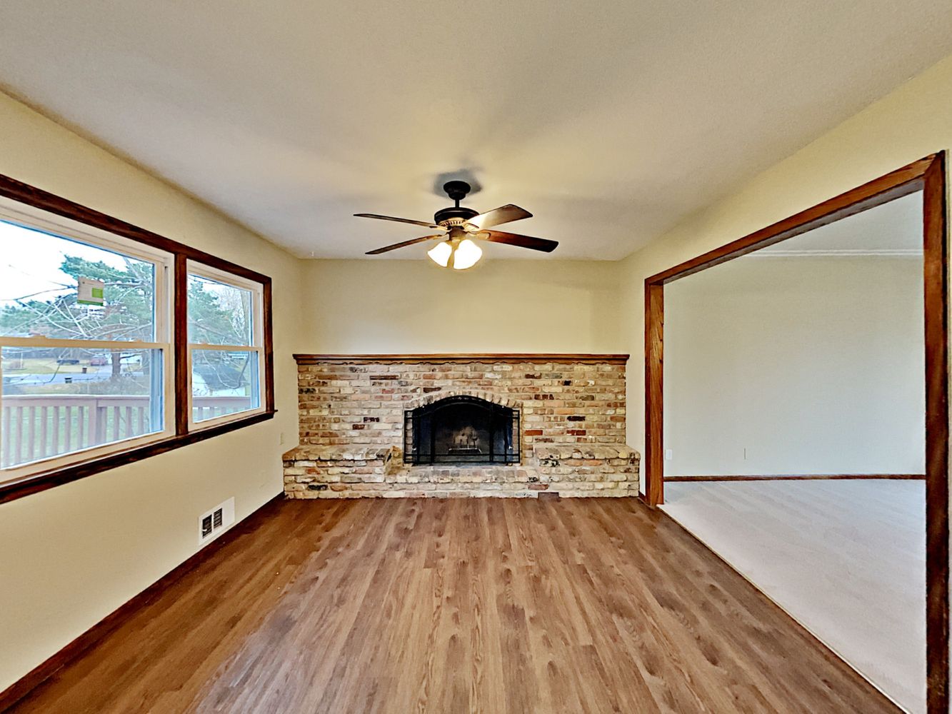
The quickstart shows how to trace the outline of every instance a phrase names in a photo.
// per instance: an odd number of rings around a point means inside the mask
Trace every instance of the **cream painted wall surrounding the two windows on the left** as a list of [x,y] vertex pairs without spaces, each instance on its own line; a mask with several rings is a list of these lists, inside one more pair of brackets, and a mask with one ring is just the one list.
[[[0,94],[0,173],[273,280],[273,420],[0,505],[0,690],[198,550],[197,517],[238,520],[282,490],[296,444],[300,263],[169,185]],[[285,434],[287,444],[280,444]]]

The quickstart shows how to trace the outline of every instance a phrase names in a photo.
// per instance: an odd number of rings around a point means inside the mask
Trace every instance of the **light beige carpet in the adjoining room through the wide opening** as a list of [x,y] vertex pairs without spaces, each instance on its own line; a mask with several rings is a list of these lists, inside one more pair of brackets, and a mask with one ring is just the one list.
[[925,711],[925,485],[664,485],[664,510],[897,704]]

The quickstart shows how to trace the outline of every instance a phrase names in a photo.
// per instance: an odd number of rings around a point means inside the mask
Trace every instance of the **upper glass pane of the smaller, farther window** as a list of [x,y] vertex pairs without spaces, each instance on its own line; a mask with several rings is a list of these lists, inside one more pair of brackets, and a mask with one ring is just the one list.
[[253,294],[245,288],[188,275],[188,342],[253,345]]

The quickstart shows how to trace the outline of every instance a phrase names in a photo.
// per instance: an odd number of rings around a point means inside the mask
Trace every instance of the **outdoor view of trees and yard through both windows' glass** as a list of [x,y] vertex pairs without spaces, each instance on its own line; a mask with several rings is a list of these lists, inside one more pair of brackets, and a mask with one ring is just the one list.
[[[0,221],[0,466],[163,428],[168,356],[123,347],[157,341],[155,271],[146,260]],[[102,281],[103,305],[78,301],[80,278]],[[189,342],[251,345],[253,306],[250,290],[189,275]],[[4,345],[5,337],[37,344]],[[44,339],[116,344],[50,347]],[[259,406],[255,351],[191,354],[195,421]]]

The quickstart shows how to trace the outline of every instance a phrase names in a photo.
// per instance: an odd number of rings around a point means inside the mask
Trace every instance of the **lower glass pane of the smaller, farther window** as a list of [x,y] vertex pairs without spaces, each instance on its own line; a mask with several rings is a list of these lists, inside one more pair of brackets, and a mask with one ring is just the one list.
[[192,421],[260,407],[258,352],[191,350]]

